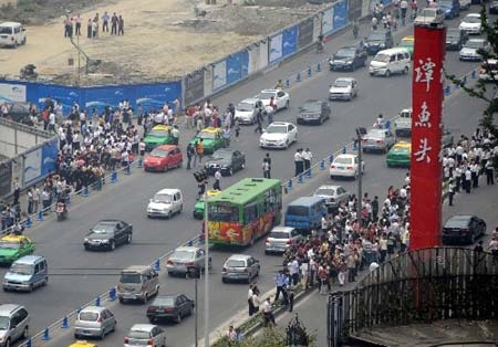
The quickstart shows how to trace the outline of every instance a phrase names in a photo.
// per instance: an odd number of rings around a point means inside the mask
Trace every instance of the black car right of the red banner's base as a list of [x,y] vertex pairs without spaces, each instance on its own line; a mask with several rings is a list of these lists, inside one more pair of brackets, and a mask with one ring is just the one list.
[[443,244],[474,243],[476,238],[485,234],[486,222],[476,215],[453,215],[443,227]]

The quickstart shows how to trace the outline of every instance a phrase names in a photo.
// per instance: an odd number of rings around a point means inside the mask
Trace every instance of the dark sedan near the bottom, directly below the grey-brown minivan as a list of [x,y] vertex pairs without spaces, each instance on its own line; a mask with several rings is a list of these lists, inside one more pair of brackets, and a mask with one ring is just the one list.
[[147,318],[152,324],[162,318],[180,323],[194,314],[194,301],[184,294],[160,295],[147,307]]

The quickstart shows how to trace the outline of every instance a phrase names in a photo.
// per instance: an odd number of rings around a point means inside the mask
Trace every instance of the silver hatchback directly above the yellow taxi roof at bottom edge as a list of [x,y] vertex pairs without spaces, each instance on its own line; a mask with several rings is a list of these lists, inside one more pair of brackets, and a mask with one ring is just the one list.
[[98,337],[104,338],[105,335],[116,329],[116,318],[114,314],[102,306],[87,306],[83,308],[74,323],[74,337]]

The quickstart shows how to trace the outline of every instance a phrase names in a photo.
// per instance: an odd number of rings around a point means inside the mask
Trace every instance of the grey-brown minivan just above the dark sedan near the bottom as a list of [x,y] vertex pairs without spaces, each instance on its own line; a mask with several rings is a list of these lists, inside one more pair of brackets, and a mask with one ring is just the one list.
[[157,272],[149,265],[133,265],[121,272],[117,284],[117,298],[120,303],[126,301],[142,301],[159,293],[159,278]]

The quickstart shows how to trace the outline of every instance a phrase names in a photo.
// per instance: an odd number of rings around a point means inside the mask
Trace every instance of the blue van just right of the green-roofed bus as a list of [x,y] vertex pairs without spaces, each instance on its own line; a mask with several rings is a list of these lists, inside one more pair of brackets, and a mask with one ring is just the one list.
[[321,229],[322,217],[326,214],[325,200],[321,197],[301,197],[287,206],[286,227],[299,231]]

